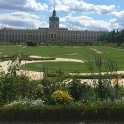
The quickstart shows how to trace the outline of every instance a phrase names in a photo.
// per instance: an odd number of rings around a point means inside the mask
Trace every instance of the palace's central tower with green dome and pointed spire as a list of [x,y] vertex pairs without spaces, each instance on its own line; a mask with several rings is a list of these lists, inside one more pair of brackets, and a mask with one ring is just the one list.
[[56,10],[53,10],[53,14],[49,17],[49,29],[59,29],[59,18],[56,16]]

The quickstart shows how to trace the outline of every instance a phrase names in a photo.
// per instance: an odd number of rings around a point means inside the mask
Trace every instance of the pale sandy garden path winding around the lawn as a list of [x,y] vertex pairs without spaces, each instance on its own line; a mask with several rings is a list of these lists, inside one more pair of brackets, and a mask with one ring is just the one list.
[[[38,56],[31,56],[31,57],[38,57]],[[69,61],[69,62],[81,62],[84,63],[82,60],[77,60],[77,59],[69,59],[69,58],[56,58],[55,60],[38,60],[38,61],[22,61],[21,65],[27,64],[27,63],[36,63],[36,62],[48,62],[48,61]],[[7,72],[9,66],[11,65],[11,61],[3,61],[0,62],[1,70],[0,71],[5,71]],[[103,72],[104,74],[106,72]],[[118,74],[124,74],[124,71],[118,71]],[[28,76],[29,78],[33,80],[39,80],[43,79],[43,72],[35,72],[35,71],[26,71],[26,70],[20,70],[17,72],[18,75],[24,74]],[[90,73],[80,73],[80,75],[88,75]],[[97,73],[96,73],[97,74]],[[93,84],[93,81],[98,81],[98,80],[92,80],[92,79],[83,79],[81,80],[82,83],[88,82],[88,84]],[[113,83],[117,82],[116,79],[112,80]],[[118,79],[119,84],[124,86],[124,79]]]

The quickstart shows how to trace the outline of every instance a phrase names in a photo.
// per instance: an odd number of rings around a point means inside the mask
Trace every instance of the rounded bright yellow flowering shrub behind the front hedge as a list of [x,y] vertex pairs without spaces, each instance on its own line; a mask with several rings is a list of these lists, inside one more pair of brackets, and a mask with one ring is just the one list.
[[73,98],[69,95],[68,91],[56,90],[51,97],[55,104],[67,104],[73,101]]

